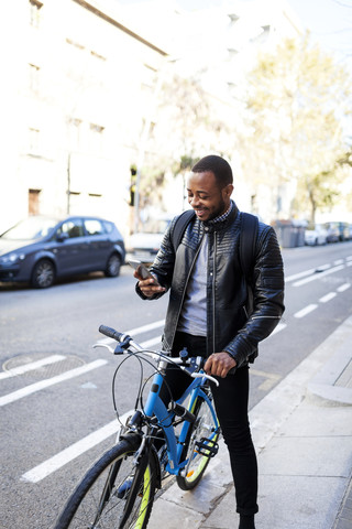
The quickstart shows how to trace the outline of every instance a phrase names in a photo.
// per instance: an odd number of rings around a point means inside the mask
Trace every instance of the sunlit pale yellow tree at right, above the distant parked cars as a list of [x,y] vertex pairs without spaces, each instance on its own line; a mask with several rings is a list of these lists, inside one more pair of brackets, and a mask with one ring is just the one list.
[[[308,34],[260,55],[248,79],[250,133],[243,165],[253,193],[268,181],[276,193],[273,214],[308,214],[314,220],[317,208],[336,203],[345,177],[338,160],[352,110],[351,79],[331,56],[310,45]],[[285,210],[282,201],[289,186]]]

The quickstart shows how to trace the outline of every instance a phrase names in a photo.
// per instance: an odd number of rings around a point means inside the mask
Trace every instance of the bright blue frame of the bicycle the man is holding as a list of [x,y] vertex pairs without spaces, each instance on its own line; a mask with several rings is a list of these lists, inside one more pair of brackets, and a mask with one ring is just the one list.
[[[164,381],[163,375],[161,373],[156,373],[154,375],[153,385],[144,407],[144,413],[150,418],[152,418],[153,415],[157,418],[158,423],[161,424],[166,438],[167,456],[168,456],[166,471],[169,474],[177,475],[188,463],[188,461],[180,462],[180,458],[183,455],[184,443],[186,441],[187,433],[191,423],[185,420],[182,427],[180,434],[178,438],[176,438],[174,425],[172,424],[172,420],[170,420],[170,411],[167,410],[167,408],[165,407],[164,402],[160,397],[160,391],[161,391],[163,381]],[[218,422],[218,418],[213,409],[212,402],[210,401],[208,395],[202,390],[202,386],[205,381],[206,381],[206,378],[194,379],[191,384],[188,386],[188,388],[186,389],[186,391],[184,392],[184,395],[180,397],[180,399],[176,401],[176,403],[182,404],[188,397],[190,397],[188,411],[193,412],[198,397],[201,397],[208,403],[209,409],[211,410],[213,422],[215,424],[217,424],[218,427],[217,430],[218,430],[219,422]],[[217,431],[213,432],[213,435],[216,434],[217,434]]]

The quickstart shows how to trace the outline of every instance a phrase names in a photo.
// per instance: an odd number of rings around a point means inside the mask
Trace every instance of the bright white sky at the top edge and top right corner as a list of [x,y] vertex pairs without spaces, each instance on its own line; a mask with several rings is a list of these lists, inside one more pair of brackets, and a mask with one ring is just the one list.
[[[118,0],[121,4],[147,0]],[[246,0],[243,0],[246,1]],[[249,0],[250,1],[250,0]],[[336,54],[352,72],[352,0],[286,0],[312,40],[328,53]],[[263,0],[265,2],[265,0]],[[219,7],[223,0],[177,0],[185,10]]]

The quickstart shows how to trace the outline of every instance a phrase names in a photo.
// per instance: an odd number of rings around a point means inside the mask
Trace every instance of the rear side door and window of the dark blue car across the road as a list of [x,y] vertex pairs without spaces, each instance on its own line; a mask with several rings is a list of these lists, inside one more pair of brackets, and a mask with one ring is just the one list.
[[113,245],[103,223],[98,218],[85,218],[84,226],[89,240],[90,270],[105,270]]

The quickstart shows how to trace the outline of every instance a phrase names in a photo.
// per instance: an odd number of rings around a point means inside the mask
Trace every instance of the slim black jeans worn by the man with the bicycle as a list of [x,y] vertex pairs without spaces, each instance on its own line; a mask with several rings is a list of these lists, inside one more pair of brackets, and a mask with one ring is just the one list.
[[[173,356],[178,356],[184,347],[187,347],[190,356],[206,357],[206,338],[202,336],[177,333]],[[257,464],[248,414],[249,367],[241,367],[234,375],[218,380],[219,386],[212,384],[211,389],[222,435],[230,454],[237,511],[241,515],[254,515],[258,510]],[[169,366],[162,391],[163,400],[169,401],[169,392],[175,400],[179,399],[188,385],[189,377],[180,369]]]

